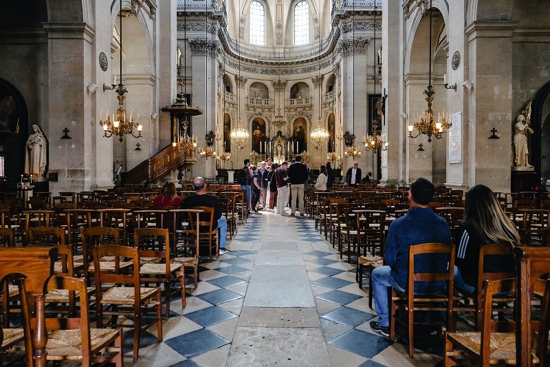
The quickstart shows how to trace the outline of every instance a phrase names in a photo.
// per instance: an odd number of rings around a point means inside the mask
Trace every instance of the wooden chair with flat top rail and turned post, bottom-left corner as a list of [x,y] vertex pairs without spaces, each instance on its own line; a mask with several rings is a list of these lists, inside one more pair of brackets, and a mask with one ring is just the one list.
[[[34,333],[25,333],[25,348],[30,366],[46,366],[46,328],[44,313],[45,283],[54,273],[54,258],[56,249],[48,248],[6,248],[0,249],[0,288],[8,275],[26,277],[25,289],[28,292],[28,303],[34,311]],[[25,293],[26,294],[26,293]],[[26,297],[25,297],[26,298]],[[24,324],[29,324],[30,313],[23,313]],[[2,330],[2,348],[9,348],[21,339],[21,329]],[[0,358],[3,353],[0,353]]]

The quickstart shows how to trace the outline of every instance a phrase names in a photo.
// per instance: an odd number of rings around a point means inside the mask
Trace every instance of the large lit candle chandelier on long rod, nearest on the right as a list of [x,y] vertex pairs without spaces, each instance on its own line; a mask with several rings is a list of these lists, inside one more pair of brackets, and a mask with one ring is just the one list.
[[[434,101],[435,94],[434,87],[432,86],[432,0],[430,0],[429,50],[430,54],[428,55],[428,87],[423,92],[423,94],[426,94],[428,109],[426,109],[426,111],[420,116],[413,118],[414,123],[412,125],[408,125],[408,137],[417,138],[417,136],[426,135],[428,136],[428,143],[432,143],[432,137],[437,139],[443,138],[443,134],[445,134],[446,132],[445,130],[451,127],[450,116],[449,114],[445,114],[445,110],[443,110],[443,116],[441,116],[441,114],[438,114],[437,122],[434,120],[434,112],[432,110],[432,103]],[[417,134],[412,135],[413,129],[417,129]]]

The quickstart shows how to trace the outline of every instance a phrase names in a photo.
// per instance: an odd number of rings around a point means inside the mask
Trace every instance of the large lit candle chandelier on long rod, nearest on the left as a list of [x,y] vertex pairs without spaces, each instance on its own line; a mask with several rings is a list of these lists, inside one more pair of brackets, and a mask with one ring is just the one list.
[[[124,135],[131,135],[134,138],[142,137],[143,125],[140,124],[140,115],[137,115],[136,122],[133,122],[133,111],[130,113],[130,117],[126,119],[126,109],[124,109],[124,100],[126,96],[124,94],[128,93],[124,85],[122,84],[122,1],[120,1],[120,12],[118,13],[120,17],[120,83],[116,85],[103,85],[103,92],[106,90],[115,90],[118,94],[116,97],[118,99],[118,109],[116,110],[116,115],[113,114],[112,118],[109,116],[109,110],[107,109],[105,113],[105,120],[101,120],[102,112],[100,112],[99,124],[103,128],[103,136],[105,138],[110,138],[113,135],[118,136],[118,140],[122,143]],[[137,134],[135,131],[137,130]]]

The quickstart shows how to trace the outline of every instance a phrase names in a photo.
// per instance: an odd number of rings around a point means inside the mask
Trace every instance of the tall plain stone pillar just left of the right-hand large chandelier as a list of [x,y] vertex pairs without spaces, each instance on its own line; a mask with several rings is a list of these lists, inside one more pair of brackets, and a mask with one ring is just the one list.
[[[385,125],[382,134],[388,136],[388,150],[382,152],[381,184],[404,182],[404,143],[406,119],[401,116],[403,94],[403,65],[401,63],[403,10],[399,1],[382,1],[382,94],[386,97]],[[384,157],[386,156],[386,157]],[[384,167],[384,162],[387,162]]]

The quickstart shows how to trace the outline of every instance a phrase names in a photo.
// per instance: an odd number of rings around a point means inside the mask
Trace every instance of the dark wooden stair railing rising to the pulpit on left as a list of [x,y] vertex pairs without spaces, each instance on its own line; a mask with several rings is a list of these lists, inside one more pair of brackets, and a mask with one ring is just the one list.
[[121,174],[123,185],[147,185],[174,169],[195,165],[195,149],[176,149],[172,145]]

